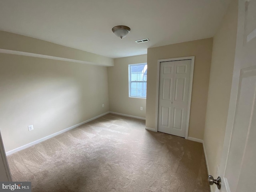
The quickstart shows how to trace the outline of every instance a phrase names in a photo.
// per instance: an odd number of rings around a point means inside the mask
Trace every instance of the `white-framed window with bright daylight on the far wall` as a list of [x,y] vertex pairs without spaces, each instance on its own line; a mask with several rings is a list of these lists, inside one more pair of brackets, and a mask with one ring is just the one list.
[[129,65],[129,97],[146,98],[147,64]]

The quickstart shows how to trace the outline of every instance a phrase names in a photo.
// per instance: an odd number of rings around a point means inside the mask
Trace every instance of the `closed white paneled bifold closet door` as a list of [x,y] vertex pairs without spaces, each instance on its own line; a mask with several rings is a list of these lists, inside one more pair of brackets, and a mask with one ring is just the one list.
[[191,59],[160,62],[158,131],[185,137]]

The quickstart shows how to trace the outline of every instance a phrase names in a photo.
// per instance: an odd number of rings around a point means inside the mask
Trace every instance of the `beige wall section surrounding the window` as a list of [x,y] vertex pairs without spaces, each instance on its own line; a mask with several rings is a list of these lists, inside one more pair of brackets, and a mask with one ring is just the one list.
[[[137,117],[146,117],[146,99],[130,98],[128,65],[146,63],[147,55],[114,59],[114,67],[108,67],[108,92],[110,111]],[[140,110],[143,107],[143,110]]]

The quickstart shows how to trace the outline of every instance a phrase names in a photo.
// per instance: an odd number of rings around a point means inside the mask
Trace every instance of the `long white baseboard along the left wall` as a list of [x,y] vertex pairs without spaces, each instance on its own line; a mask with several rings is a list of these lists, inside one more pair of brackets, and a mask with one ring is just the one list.
[[88,119],[88,120],[86,120],[86,121],[84,121],[84,122],[81,122],[81,123],[79,123],[79,124],[76,124],[76,125],[74,125],[74,126],[72,126],[72,127],[69,127],[69,128],[64,129],[64,130],[61,130],[61,131],[59,131],[59,132],[56,132],[56,133],[54,133],[54,134],[48,135],[48,136],[46,136],[46,137],[43,137],[43,138],[41,138],[41,139],[38,139],[38,140],[36,140],[36,141],[33,141],[33,142],[31,142],[31,143],[28,143],[28,144],[26,144],[26,145],[23,145],[23,146],[21,146],[21,147],[18,147],[18,148],[16,148],[16,149],[10,150],[10,151],[6,152],[6,156],[11,155],[11,154],[13,154],[13,153],[15,153],[15,152],[18,152],[18,151],[20,151],[20,150],[26,149],[26,148],[28,148],[28,147],[30,147],[30,146],[33,146],[33,145],[35,145],[35,144],[38,144],[38,143],[40,143],[40,142],[42,142],[42,141],[45,141],[45,140],[47,140],[47,139],[50,139],[50,138],[52,138],[52,137],[54,137],[54,136],[57,136],[57,135],[59,135],[59,134],[62,134],[62,133],[66,132],[66,131],[69,131],[69,130],[71,130],[71,129],[74,129],[74,128],[76,128],[76,127],[82,125],[82,124],[88,123],[88,122],[90,122],[90,121],[92,121],[92,120],[94,120],[94,119],[97,119],[97,118],[99,118],[99,117],[101,117],[101,116],[104,116],[104,115],[106,115],[106,114],[108,114],[108,113],[109,113],[109,112],[106,112],[106,113],[104,113],[104,114],[98,115],[98,116],[96,116],[96,117],[94,117],[94,118]]

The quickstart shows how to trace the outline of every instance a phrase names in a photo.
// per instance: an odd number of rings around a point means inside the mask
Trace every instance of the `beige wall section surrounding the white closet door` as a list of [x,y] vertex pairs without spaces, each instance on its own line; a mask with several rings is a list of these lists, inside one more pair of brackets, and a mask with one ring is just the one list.
[[148,49],[146,126],[153,129],[156,128],[157,61],[159,59],[187,56],[195,56],[188,136],[203,139],[212,56],[212,38]]

